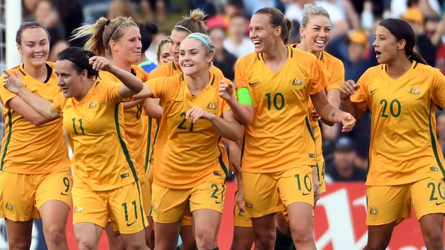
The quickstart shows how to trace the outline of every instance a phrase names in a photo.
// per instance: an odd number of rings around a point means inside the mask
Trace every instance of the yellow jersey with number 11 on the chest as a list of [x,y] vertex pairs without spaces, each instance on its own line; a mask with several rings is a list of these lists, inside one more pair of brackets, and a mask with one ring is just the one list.
[[74,180],[94,191],[116,189],[138,180],[133,153],[125,139],[122,101],[118,85],[101,80],[79,101],[62,94],[53,100],[75,148]]

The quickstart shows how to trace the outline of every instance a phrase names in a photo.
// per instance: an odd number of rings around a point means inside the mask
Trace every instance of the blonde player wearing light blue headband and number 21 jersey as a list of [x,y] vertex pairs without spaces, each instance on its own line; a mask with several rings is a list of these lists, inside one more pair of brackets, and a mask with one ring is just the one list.
[[151,211],[159,249],[176,248],[181,219],[190,212],[197,249],[218,249],[227,176],[221,139],[237,141],[242,130],[220,97],[219,84],[229,80],[209,70],[213,55],[209,37],[191,33],[180,46],[183,74],[147,82],[149,96],[160,98],[163,108]]

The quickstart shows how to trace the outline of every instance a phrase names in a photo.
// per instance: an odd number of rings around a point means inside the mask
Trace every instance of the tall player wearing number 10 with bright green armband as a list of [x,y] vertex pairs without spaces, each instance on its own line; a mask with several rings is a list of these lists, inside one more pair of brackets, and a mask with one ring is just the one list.
[[[351,130],[355,119],[329,104],[326,77],[311,53],[286,46],[290,20],[275,8],[251,18],[255,53],[238,59],[238,100],[228,100],[245,127],[242,156],[244,210],[251,217],[257,249],[273,249],[275,213],[285,209],[296,249],[315,249],[312,236],[316,148],[309,124],[309,97],[320,116]],[[230,89],[230,87],[228,87]],[[313,171],[315,169],[315,171]]]

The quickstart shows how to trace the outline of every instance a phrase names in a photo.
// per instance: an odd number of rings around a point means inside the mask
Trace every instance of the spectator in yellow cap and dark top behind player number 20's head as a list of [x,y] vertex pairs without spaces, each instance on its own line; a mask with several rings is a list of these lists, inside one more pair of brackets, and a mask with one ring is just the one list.
[[427,61],[429,66],[435,65],[436,48],[424,33],[424,16],[418,8],[409,8],[402,15],[403,20],[407,21],[414,33],[416,33],[416,47],[414,51],[418,52]]

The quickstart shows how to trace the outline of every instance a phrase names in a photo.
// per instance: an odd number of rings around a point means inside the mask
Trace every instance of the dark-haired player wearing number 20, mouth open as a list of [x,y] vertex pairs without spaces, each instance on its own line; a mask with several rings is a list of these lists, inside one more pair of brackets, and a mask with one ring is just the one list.
[[340,89],[342,109],[357,120],[372,113],[365,249],[386,249],[411,204],[427,249],[444,249],[445,161],[435,111],[445,107],[445,77],[413,51],[416,36],[403,20],[381,21],[372,45],[380,65]]

